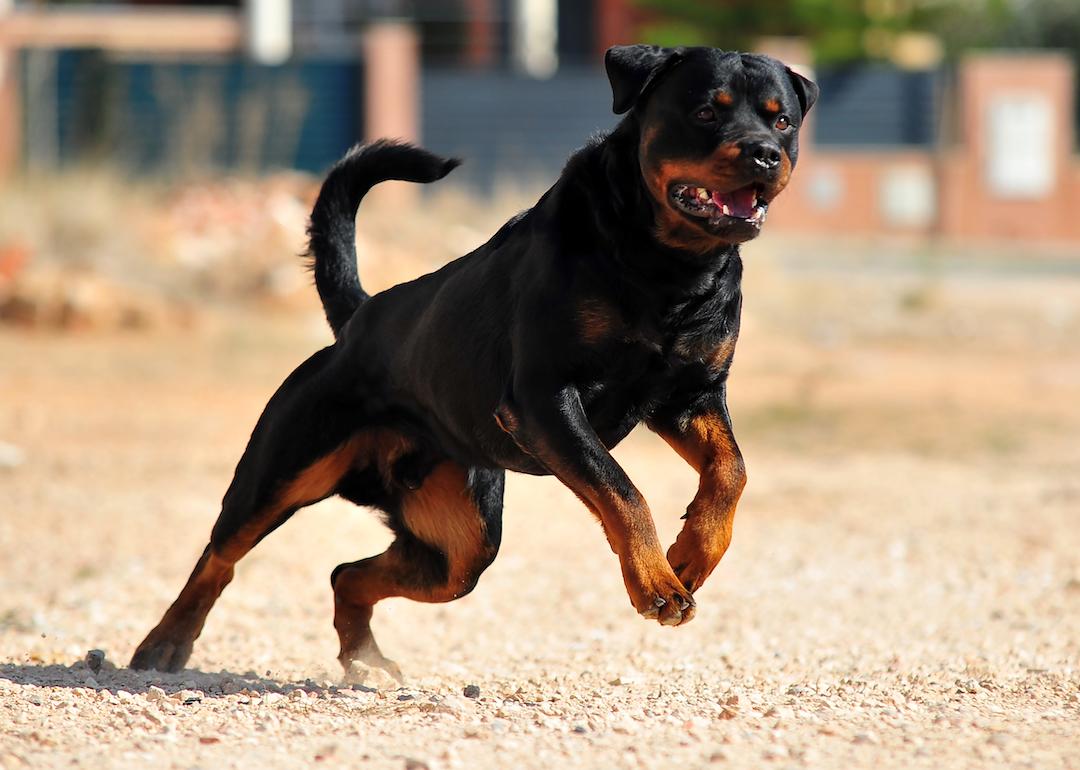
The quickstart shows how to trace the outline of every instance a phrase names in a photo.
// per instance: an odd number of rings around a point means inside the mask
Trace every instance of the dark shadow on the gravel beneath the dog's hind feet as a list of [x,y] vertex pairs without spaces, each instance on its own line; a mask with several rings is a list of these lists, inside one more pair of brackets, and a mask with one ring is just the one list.
[[108,661],[105,661],[96,671],[91,668],[85,661],[78,661],[71,665],[62,663],[0,663],[0,680],[2,679],[15,685],[104,690],[113,695],[121,691],[133,695],[148,694],[150,688],[153,687],[163,690],[165,697],[168,698],[180,698],[183,693],[188,692],[186,698],[198,700],[239,693],[287,695],[294,690],[303,690],[309,694],[332,693],[340,689],[374,691],[362,685],[316,683],[311,679],[278,681],[259,676],[254,672],[235,674],[229,671],[203,672],[198,668],[186,668],[170,674],[159,671],[134,671],[117,667]]

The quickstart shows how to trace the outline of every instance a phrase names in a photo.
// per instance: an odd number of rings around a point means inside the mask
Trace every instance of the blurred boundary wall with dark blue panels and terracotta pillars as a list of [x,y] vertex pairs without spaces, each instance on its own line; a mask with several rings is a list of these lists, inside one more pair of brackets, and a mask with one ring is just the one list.
[[[0,166],[320,172],[392,135],[464,158],[482,192],[552,179],[613,125],[603,52],[640,21],[633,0],[0,0]],[[1064,55],[814,77],[777,226],[1080,240]]]

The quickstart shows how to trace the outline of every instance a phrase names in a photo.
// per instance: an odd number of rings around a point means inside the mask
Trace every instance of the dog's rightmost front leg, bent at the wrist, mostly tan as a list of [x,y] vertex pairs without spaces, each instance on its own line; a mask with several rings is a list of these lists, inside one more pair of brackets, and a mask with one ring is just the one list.
[[728,550],[735,505],[746,486],[746,468],[731,432],[725,389],[692,407],[653,418],[649,428],[700,475],[683,530],[667,550],[675,573],[693,592]]

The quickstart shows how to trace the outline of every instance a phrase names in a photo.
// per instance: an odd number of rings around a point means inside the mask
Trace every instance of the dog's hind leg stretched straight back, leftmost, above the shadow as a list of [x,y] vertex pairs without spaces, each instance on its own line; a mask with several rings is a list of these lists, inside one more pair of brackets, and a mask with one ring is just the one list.
[[352,467],[363,440],[340,403],[326,398],[330,356],[330,349],[313,355],[270,400],[225,495],[210,544],[179,596],[135,650],[133,668],[183,668],[237,562],[298,509],[333,495]]

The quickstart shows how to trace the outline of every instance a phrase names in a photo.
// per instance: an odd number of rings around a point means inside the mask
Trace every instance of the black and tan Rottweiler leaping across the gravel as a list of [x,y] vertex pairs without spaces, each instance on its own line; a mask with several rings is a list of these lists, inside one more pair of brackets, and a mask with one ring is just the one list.
[[[383,511],[395,540],[330,577],[339,660],[395,672],[372,608],[469,593],[499,549],[505,470],[552,474],[581,498],[640,614],[693,617],[745,483],[726,404],[738,244],[787,185],[818,89],[775,59],[714,49],[619,46],[606,65],[625,119],[536,206],[416,281],[364,293],[356,208],[379,181],[429,183],[457,162],[380,141],[330,171],[310,235],[336,342],[270,400],[210,544],[133,667],[183,667],[237,562],[340,495]],[[643,421],[701,476],[666,555],[608,452]]]

